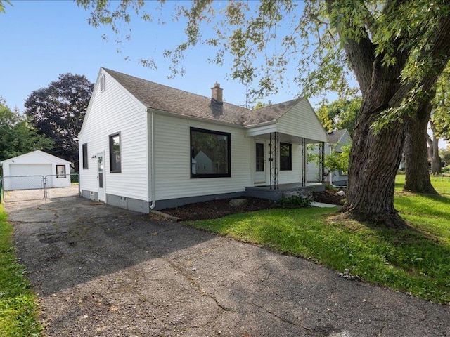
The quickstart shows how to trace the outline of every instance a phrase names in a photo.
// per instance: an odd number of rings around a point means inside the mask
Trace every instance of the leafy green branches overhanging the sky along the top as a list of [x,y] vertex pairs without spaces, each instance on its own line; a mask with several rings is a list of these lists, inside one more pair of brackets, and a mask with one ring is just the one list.
[[[400,62],[406,66],[404,79],[423,77],[433,67],[423,51],[432,48],[430,41],[440,24],[437,19],[449,13],[443,0],[397,5],[389,1],[330,1],[330,6],[320,0],[227,1],[225,7],[212,0],[176,6],[143,0],[77,0],[77,4],[91,12],[90,25],[110,27],[118,44],[129,39],[126,25],[132,20],[146,21],[151,29],[152,22],[167,23],[161,19],[163,11],[172,11],[172,20],[186,22],[186,39],[162,51],[172,61],[172,75],[184,74],[181,61],[186,53],[203,44],[215,50],[210,62],[224,65],[230,55],[231,77],[253,84],[257,96],[276,92],[284,75],[297,65],[296,81],[304,95],[335,91],[341,97],[352,97],[357,88],[349,80],[354,79],[355,69],[344,47],[349,41],[360,43],[367,38],[383,67]],[[140,61],[156,67],[153,58]],[[358,76],[356,79],[359,81]]]

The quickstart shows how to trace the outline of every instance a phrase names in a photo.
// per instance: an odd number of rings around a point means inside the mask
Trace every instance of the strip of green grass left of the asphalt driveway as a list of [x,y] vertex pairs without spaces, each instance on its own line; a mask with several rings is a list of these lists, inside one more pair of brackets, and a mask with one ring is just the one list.
[[37,297],[17,263],[13,227],[0,204],[0,336],[40,336]]

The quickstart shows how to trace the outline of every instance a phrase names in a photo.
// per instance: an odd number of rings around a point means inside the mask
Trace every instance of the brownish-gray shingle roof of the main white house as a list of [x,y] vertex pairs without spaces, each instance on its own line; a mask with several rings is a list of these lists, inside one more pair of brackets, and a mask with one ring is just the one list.
[[224,102],[219,104],[211,98],[195,93],[189,93],[162,84],[157,84],[139,77],[122,74],[103,68],[117,82],[141,101],[146,107],[172,112],[183,116],[198,117],[212,121],[220,121],[240,126],[250,126],[274,121],[283,116],[296,103],[300,101],[290,100],[288,102],[269,105],[258,110],[250,110]]

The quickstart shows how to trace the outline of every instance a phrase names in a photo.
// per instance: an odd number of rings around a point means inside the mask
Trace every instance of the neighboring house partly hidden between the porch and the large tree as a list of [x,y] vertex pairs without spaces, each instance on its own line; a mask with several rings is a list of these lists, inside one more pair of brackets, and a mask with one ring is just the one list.
[[[352,138],[346,128],[328,132],[326,136],[328,141],[323,148],[325,156],[329,155],[332,151],[342,152],[343,146],[352,144]],[[311,153],[319,154],[319,146],[314,146],[314,150]],[[319,181],[320,169],[317,161],[309,161],[307,171],[307,181]],[[347,185],[347,180],[348,173],[346,171],[333,171],[329,177],[330,183],[335,186],[345,186]]]

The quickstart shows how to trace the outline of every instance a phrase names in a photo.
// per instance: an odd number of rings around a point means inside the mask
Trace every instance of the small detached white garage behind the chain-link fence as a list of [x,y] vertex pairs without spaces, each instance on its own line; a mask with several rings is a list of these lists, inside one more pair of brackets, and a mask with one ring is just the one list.
[[0,162],[4,190],[70,187],[70,162],[43,151],[33,151]]

